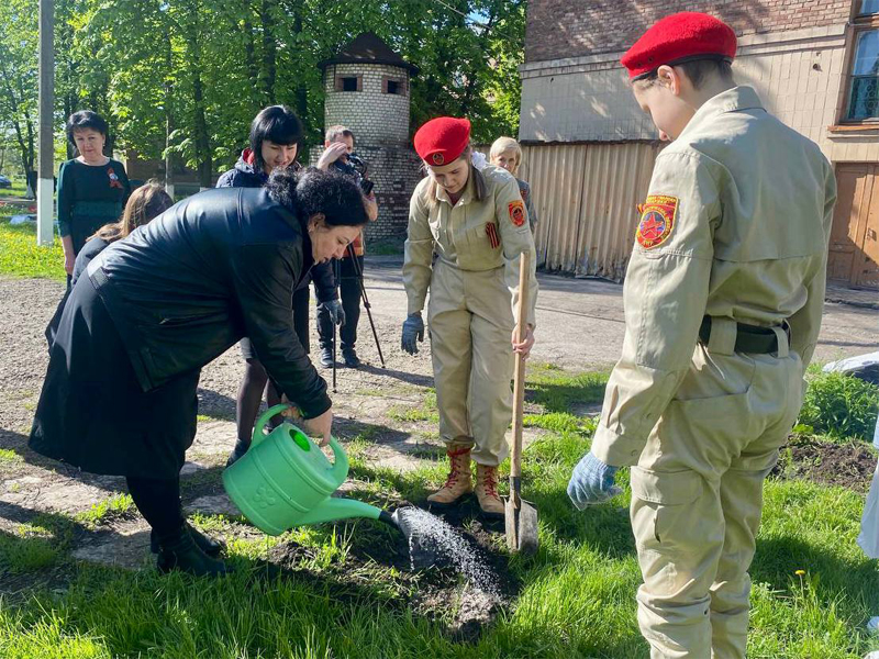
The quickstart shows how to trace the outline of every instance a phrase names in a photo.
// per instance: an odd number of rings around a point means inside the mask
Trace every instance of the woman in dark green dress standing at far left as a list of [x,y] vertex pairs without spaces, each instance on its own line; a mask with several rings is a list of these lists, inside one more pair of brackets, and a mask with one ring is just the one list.
[[122,163],[103,154],[107,122],[100,114],[91,110],[74,112],[66,131],[79,154],[63,163],[58,171],[58,230],[69,288],[76,255],[99,227],[119,219],[131,183]]

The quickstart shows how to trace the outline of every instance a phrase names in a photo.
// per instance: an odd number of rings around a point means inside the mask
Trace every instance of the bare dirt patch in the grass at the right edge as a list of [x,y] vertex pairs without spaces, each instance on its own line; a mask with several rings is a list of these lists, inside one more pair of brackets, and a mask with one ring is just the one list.
[[855,492],[870,489],[876,456],[866,444],[835,444],[797,438],[781,447],[771,476],[804,478],[822,485],[841,485]]

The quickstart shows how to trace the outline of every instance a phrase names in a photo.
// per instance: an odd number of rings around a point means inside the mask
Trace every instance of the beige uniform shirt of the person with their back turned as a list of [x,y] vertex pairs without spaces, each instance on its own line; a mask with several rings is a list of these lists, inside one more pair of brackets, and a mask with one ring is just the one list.
[[819,147],[749,87],[702,105],[656,159],[623,299],[623,354],[593,454],[634,465],[675,395],[704,315],[788,320],[808,365],[824,304],[836,183]]

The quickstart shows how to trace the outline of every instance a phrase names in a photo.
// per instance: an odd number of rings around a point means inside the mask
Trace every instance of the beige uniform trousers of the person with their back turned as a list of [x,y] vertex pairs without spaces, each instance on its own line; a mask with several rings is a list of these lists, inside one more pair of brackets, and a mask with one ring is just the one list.
[[781,331],[778,354],[733,354],[734,323],[714,323],[632,468],[653,659],[745,657],[763,482],[802,400],[802,361]]

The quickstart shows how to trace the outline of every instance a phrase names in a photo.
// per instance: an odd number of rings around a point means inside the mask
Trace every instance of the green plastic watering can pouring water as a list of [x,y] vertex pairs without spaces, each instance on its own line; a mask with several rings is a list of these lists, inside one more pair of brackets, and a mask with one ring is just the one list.
[[331,498],[348,476],[348,456],[333,437],[333,463],[320,447],[285,421],[266,436],[268,421],[289,405],[270,407],[256,422],[249,450],[223,472],[223,487],[257,528],[280,535],[293,526],[347,517],[391,523],[391,516],[353,499]]

